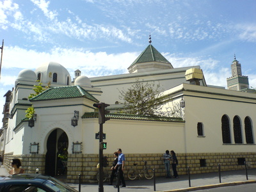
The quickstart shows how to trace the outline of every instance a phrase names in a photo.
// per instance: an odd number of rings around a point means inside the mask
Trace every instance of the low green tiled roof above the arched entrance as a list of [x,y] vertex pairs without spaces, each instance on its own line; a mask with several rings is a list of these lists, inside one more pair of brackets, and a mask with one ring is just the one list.
[[56,99],[71,99],[71,98],[79,98],[84,97],[86,99],[93,100],[95,102],[99,102],[99,100],[95,99],[90,93],[86,92],[81,86],[58,86],[49,88],[44,92],[36,95],[31,101],[39,101],[39,100],[56,100]]

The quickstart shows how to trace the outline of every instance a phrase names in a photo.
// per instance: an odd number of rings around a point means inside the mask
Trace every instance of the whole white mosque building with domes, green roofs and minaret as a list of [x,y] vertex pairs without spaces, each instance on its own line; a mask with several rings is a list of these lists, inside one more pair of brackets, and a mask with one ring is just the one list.
[[[208,86],[200,66],[173,68],[172,63],[149,41],[147,48],[128,67],[129,74],[88,78],[80,70],[71,78],[59,63],[49,62],[36,70],[20,71],[13,90],[4,97],[1,155],[10,168],[10,159],[22,159],[28,173],[36,168],[56,176],[57,157],[67,165],[67,182],[96,182],[99,162],[98,117],[93,104],[110,104],[110,120],[104,124],[104,156],[112,161],[116,148],[122,148],[126,170],[143,160],[164,175],[161,157],[174,150],[178,172],[191,174],[243,169],[244,161],[255,168],[256,94],[249,89],[236,57],[227,87]],[[166,104],[179,111],[179,117],[156,117],[116,113],[122,108],[118,90],[130,88],[139,79],[157,82],[163,94],[172,99]],[[28,99],[36,80],[49,86]],[[247,91],[246,91],[247,90]],[[25,118],[33,106],[33,118]],[[164,107],[166,107],[164,106]],[[164,108],[163,107],[163,108]]]

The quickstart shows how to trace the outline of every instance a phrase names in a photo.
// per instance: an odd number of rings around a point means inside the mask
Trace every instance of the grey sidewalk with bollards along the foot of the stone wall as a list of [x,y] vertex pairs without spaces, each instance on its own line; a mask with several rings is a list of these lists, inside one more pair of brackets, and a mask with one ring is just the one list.
[[[8,174],[4,166],[0,167],[0,175]],[[190,175],[191,187],[189,188],[188,175],[180,175],[179,179],[166,179],[164,177],[156,178],[156,191],[196,191],[200,189],[216,188],[220,186],[232,186],[237,184],[256,183],[256,169],[248,169],[248,180],[246,180],[245,170],[235,170],[221,172],[221,183],[219,173],[204,173]],[[125,180],[126,188],[120,188],[120,191],[154,191],[154,180]],[[68,184],[73,188],[79,189],[78,184]],[[99,191],[98,184],[81,184],[81,192]],[[109,186],[104,182],[104,192],[118,191],[117,188]]]

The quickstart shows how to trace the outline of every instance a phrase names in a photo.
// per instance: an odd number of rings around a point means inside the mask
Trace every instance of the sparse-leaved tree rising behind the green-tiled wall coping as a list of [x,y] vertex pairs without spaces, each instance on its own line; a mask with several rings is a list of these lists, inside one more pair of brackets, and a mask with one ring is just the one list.
[[169,116],[170,111],[163,110],[163,105],[172,99],[161,93],[160,84],[154,82],[142,83],[139,79],[132,84],[128,90],[118,90],[120,92],[119,99],[124,100],[125,113],[132,115],[147,116]]

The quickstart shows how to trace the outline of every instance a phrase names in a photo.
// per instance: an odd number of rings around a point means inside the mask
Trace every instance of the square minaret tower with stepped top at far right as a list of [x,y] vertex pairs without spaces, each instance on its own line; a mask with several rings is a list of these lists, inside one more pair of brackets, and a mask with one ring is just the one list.
[[242,76],[241,64],[236,60],[231,65],[232,77],[227,78],[228,90],[243,91],[249,88],[248,76]]

